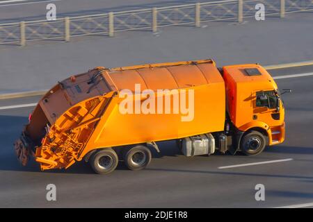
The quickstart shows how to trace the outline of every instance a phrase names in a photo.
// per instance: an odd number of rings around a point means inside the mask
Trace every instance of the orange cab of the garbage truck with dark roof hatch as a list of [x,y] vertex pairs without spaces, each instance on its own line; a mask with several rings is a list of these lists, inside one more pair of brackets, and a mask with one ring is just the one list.
[[[231,65],[223,67],[223,78],[227,114],[239,134],[244,138],[247,133],[259,132],[269,146],[284,142],[284,105],[266,69],[257,64]],[[239,150],[246,147],[247,154],[256,154],[259,143],[259,138],[252,136],[246,144],[238,143]]]

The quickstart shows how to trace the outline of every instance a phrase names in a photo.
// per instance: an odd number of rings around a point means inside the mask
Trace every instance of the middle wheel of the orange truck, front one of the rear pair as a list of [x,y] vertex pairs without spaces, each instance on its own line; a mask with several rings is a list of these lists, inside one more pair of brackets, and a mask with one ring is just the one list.
[[146,146],[134,146],[125,151],[124,161],[128,169],[138,171],[147,167],[151,161],[151,151]]

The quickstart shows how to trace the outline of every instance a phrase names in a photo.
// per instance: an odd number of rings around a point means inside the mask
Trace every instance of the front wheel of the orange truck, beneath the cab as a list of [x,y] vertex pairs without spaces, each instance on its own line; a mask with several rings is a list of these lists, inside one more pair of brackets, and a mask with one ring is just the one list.
[[262,133],[251,131],[241,139],[241,151],[246,155],[257,155],[264,151],[266,139]]

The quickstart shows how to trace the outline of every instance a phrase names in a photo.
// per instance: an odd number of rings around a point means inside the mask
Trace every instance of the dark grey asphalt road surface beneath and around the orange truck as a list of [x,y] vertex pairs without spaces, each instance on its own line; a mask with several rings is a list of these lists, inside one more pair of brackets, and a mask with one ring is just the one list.
[[[313,66],[272,70],[273,76],[310,73]],[[108,176],[96,175],[78,162],[67,171],[40,172],[31,162],[22,167],[13,142],[32,108],[0,110],[0,207],[282,207],[313,202],[313,76],[281,78],[287,135],[255,157],[211,155],[184,157],[174,142],[159,144],[149,167],[129,171],[122,163]],[[0,101],[0,107],[34,103],[38,97]],[[234,164],[284,160],[247,167]],[[56,185],[57,200],[46,200],[46,186]],[[255,200],[263,184],[265,201]]]

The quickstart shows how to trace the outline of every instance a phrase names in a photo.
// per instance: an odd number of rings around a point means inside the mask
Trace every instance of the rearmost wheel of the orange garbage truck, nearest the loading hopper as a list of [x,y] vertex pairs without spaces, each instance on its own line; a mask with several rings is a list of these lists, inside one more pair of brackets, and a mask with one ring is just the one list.
[[118,166],[118,155],[111,148],[94,153],[90,158],[90,165],[98,174],[111,173]]

